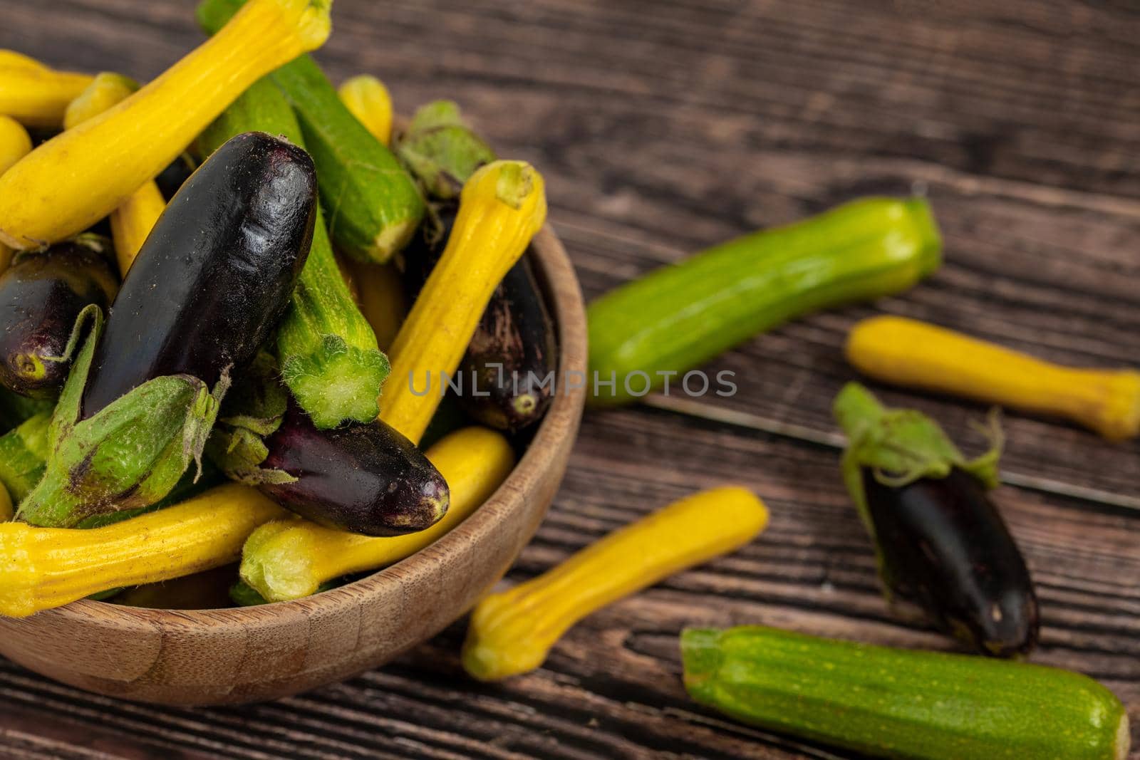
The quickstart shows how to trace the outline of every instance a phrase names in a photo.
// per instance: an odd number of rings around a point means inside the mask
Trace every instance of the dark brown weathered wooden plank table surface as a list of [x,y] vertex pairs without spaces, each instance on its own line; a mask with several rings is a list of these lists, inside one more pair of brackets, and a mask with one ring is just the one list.
[[[0,47],[158,73],[201,39],[192,0],[0,0]],[[523,580],[694,489],[771,506],[751,546],[577,626],[540,670],[478,685],[463,623],[399,662],[271,704],[154,709],[0,663],[0,753],[32,758],[841,758],[693,705],[690,624],[767,623],[951,648],[879,595],[839,481],[840,345],[886,311],[1051,359],[1140,358],[1140,6],[1132,0],[336,0],[318,58],[407,112],[458,100],[548,178],[587,296],[757,227],[922,193],[945,265],[912,292],[719,359],[739,393],[588,412]],[[976,448],[984,408],[882,389]],[[1037,583],[1034,660],[1106,684],[1140,724],[1140,450],[1007,417],[996,493]],[[1133,732],[1140,742],[1140,733]],[[1140,758],[1134,753],[1133,758]]]

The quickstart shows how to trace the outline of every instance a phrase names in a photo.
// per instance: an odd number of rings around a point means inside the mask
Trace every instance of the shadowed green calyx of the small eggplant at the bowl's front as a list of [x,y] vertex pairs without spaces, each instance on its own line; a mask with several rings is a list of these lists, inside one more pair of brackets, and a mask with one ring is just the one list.
[[206,443],[210,461],[246,485],[295,481],[284,471],[261,468],[269,456],[264,439],[280,427],[287,407],[288,391],[278,381],[277,362],[262,351],[226,398]]

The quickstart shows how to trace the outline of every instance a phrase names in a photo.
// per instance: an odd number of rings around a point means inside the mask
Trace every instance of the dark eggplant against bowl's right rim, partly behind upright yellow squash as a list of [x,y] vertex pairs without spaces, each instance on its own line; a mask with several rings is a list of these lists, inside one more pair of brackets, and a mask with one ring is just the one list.
[[[438,215],[440,231],[433,239],[420,236],[405,251],[413,297],[443,252],[455,206],[442,206]],[[459,363],[464,411],[489,427],[512,433],[546,414],[557,370],[554,321],[535,280],[531,256],[528,248],[499,283]]]

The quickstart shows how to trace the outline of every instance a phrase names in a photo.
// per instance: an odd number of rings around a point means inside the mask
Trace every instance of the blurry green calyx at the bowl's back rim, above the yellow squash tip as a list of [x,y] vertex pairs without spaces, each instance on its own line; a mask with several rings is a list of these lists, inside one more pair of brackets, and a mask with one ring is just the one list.
[[475,170],[495,161],[495,152],[467,126],[450,100],[421,106],[397,142],[396,154],[426,193],[441,201],[457,198]]

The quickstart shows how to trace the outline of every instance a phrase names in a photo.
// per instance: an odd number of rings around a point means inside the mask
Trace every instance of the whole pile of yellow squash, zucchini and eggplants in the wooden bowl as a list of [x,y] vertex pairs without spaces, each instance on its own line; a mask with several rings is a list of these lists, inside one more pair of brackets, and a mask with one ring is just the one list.
[[235,604],[317,593],[462,521],[549,406],[542,175],[447,101],[393,139],[306,55],[328,10],[206,0],[141,87],[0,54],[0,614],[239,556]]

